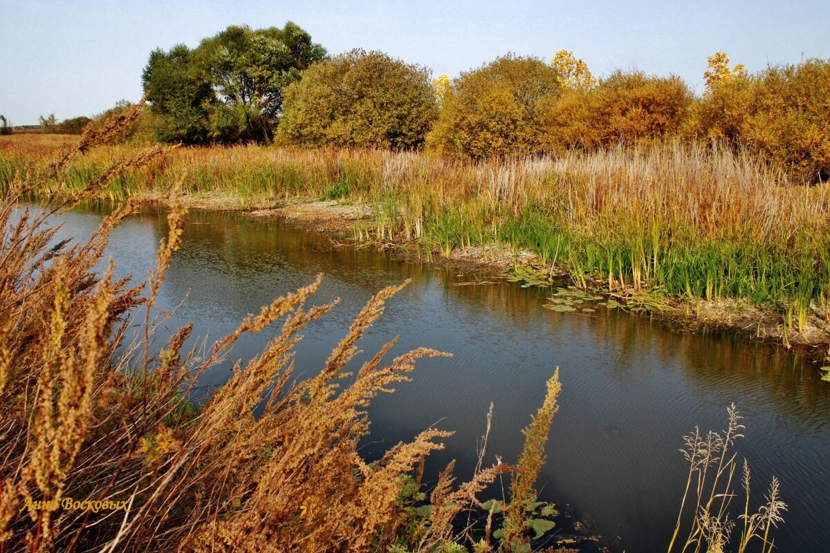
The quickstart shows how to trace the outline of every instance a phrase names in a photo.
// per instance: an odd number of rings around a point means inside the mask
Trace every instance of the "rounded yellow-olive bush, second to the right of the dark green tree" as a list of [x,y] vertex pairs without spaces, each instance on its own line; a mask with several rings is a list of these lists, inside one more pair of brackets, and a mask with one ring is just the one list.
[[502,56],[452,81],[427,144],[473,158],[539,152],[543,106],[561,90],[559,75],[544,61]]

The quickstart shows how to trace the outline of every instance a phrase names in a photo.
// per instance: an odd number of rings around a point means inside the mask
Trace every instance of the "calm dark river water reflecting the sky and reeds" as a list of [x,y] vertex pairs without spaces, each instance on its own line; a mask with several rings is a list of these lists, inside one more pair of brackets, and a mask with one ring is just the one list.
[[[99,217],[75,211],[63,219],[61,233],[80,237]],[[124,221],[108,251],[120,274],[145,275],[163,232],[164,219],[156,214]],[[520,428],[558,365],[561,410],[540,475],[543,497],[590,514],[606,536],[622,533],[630,551],[656,550],[673,527],[684,483],[681,435],[696,424],[722,428],[726,406],[735,401],[747,418],[741,452],[749,458],[756,491],[764,491],[774,473],[790,505],[776,538],[780,551],[818,551],[830,540],[823,524],[830,478],[822,472],[830,466],[830,389],[821,386],[813,367],[773,347],[670,332],[647,318],[604,308],[590,315],[554,313],[540,308],[544,293],[534,290],[453,286],[468,277],[370,250],[332,248],[325,236],[277,223],[198,212],[189,216],[159,308],[186,298],[168,327],[194,321],[194,336],[209,335],[212,342],[319,272],[325,279],[314,303],[342,303],[304,332],[296,376],[311,376],[322,366],[372,293],[406,278],[413,284],[388,303],[360,344],[367,353],[354,364],[396,334],[402,340],[390,360],[419,346],[454,354],[419,362],[413,382],[374,400],[364,454],[376,456],[438,423],[457,434],[427,466],[434,473],[457,458],[459,476],[466,478],[493,401],[489,460],[500,454],[515,462]],[[269,329],[242,337],[231,361],[260,352],[271,335]],[[217,367],[207,383],[221,384],[229,366]]]

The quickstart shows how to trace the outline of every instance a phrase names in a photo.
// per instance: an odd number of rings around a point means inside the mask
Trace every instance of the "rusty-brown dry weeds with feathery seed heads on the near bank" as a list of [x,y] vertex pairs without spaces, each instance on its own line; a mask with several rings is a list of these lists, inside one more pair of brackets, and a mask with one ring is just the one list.
[[[80,151],[56,164],[59,181]],[[115,162],[105,174],[117,177],[128,164]],[[156,350],[151,313],[181,240],[182,180],[168,198],[156,268],[138,286],[114,281],[112,263],[94,272],[110,230],[133,204],[84,244],[53,244],[54,211],[21,210],[30,188],[14,183],[0,202],[0,551],[439,551],[473,542],[474,529],[459,530],[459,517],[480,508],[477,495],[513,468],[480,463],[471,482],[456,487],[451,463],[425,509],[424,458],[451,433],[427,429],[372,463],[359,455],[369,401],[408,381],[417,359],[447,356],[417,348],[384,362],[396,338],[349,371],[359,339],[403,285],[371,298],[322,371],[305,381],[292,380],[299,332],[337,303],[307,307],[320,277],[249,315],[202,357],[183,351],[192,324]],[[139,307],[144,332],[128,341]],[[259,356],[237,362],[203,405],[191,403],[199,376],[243,333],[278,322],[281,332]],[[525,507],[541,463],[532,458],[543,454],[556,382],[528,430],[536,438],[520,459],[516,509]],[[512,512],[513,502],[504,503]],[[491,519],[476,551],[499,547],[490,529]],[[526,545],[530,536],[515,540]]]

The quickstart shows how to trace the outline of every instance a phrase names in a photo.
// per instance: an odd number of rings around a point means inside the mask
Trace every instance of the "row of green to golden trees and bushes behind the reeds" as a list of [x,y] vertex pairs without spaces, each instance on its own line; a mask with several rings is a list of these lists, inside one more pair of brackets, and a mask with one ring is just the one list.
[[[704,77],[702,95],[675,75],[595,78],[559,51],[550,62],[508,54],[432,80],[426,67],[383,52],[330,56],[291,22],[232,26],[196,48],[150,54],[143,127],[164,142],[426,148],[471,158],[680,138],[749,150],[798,182],[830,177],[830,61],[749,74],[718,52]],[[81,119],[54,132],[78,132]]]

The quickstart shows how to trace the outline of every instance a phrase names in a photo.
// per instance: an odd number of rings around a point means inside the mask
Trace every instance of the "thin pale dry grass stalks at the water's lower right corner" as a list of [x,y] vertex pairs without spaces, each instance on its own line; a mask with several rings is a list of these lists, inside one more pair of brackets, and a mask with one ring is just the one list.
[[[730,519],[730,504],[735,497],[733,480],[737,454],[732,446],[744,436],[741,434],[745,428],[742,419],[735,405],[731,405],[729,424],[723,433],[710,430],[704,435],[700,429],[695,429],[693,434],[684,436],[685,447],[681,452],[689,463],[689,473],[677,523],[669,542],[669,553],[674,550],[675,544],[680,547],[681,542],[677,538],[684,517],[691,517],[691,527],[680,551],[698,553],[704,547],[711,552],[725,551],[735,528],[735,520]],[[781,513],[787,510],[787,505],[779,497],[779,481],[777,478],[772,479],[769,493],[765,496],[766,502],[757,512],[750,514],[749,463],[746,461],[743,473],[745,506],[739,517],[743,527],[737,551],[744,553],[754,539],[761,541],[762,553],[772,551],[773,541],[769,539],[769,532],[784,521]]]

